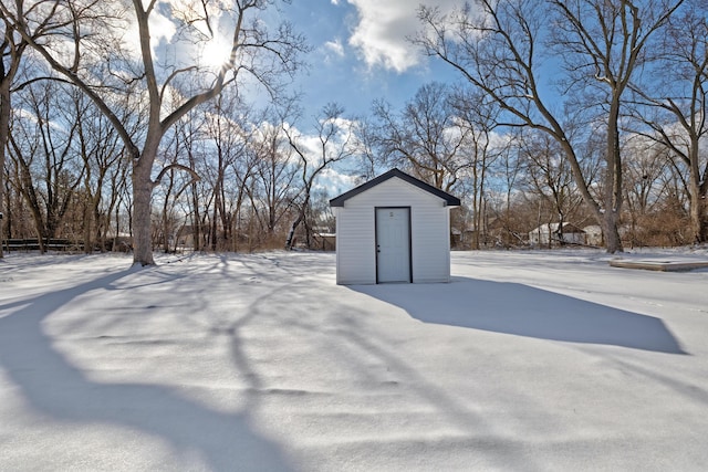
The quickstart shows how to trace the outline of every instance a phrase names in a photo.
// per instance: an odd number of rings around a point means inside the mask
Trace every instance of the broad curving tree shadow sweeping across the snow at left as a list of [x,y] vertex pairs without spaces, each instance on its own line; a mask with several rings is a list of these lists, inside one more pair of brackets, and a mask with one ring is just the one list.
[[[22,389],[23,399],[58,421],[148,433],[166,441],[173,457],[196,453],[210,470],[291,470],[278,444],[253,431],[247,411],[215,411],[165,386],[91,381],[52,348],[42,329],[44,318],[93,290],[121,290],[115,282],[132,271],[4,306],[18,310],[0,318],[0,367]],[[86,451],[80,449],[75,459],[85,461]]]

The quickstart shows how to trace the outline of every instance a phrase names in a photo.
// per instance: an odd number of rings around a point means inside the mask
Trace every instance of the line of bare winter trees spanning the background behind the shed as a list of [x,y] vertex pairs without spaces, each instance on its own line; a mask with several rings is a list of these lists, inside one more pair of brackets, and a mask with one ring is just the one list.
[[[329,179],[391,167],[462,199],[452,225],[468,248],[563,222],[598,225],[608,252],[708,238],[702,1],[420,7],[412,41],[459,81],[363,117],[336,103],[302,116],[287,78],[309,46],[260,20],[274,2],[173,4],[171,56],[150,31],[157,2],[106,3],[0,6],[0,238],[92,251],[129,237],[142,264],[187,242],[319,247]],[[214,66],[217,21],[232,34]],[[257,86],[266,105],[248,99]]]

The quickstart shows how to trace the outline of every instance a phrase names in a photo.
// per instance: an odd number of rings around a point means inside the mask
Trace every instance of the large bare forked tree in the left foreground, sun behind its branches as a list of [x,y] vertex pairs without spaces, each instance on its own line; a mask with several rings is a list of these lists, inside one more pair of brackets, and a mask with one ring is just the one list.
[[[197,105],[217,96],[227,85],[238,83],[243,74],[256,80],[274,92],[279,73],[293,73],[300,63],[298,53],[306,50],[302,36],[295,34],[288,23],[281,24],[271,34],[266,22],[258,14],[268,9],[272,1],[233,0],[228,10],[223,2],[201,0],[169,4],[168,20],[175,25],[177,34],[174,44],[189,48],[212,39],[217,31],[215,21],[231,22],[230,54],[226,63],[216,72],[200,67],[198,62],[175,63],[160,69],[166,61],[159,62],[152,43],[150,17],[156,11],[156,0],[132,0],[129,7],[124,2],[100,0],[37,0],[32,6],[18,0],[17,9],[10,10],[0,3],[0,12],[9,24],[22,35],[53,70],[80,87],[108,117],[124,141],[133,160],[133,228],[134,263],[154,264],[150,240],[150,198],[156,181],[152,178],[153,167],[166,132]],[[218,4],[217,4],[218,3]],[[184,9],[180,10],[180,6]],[[127,12],[132,11],[133,20]],[[228,17],[218,17],[227,13]],[[35,24],[59,22],[64,25],[62,42],[40,42],[32,34]],[[136,24],[139,60],[131,60],[125,44],[125,32]],[[113,32],[122,32],[122,35]],[[184,41],[179,41],[184,39]],[[71,48],[66,48],[66,42]],[[114,78],[116,86],[139,82],[145,90],[147,123],[140,141],[126,129],[116,114],[112,97],[115,90],[107,87],[106,76],[96,77],[86,67],[86,61],[100,59],[106,64],[106,73]],[[115,64],[119,64],[116,67]],[[116,69],[113,69],[116,67]],[[189,75],[192,83],[207,83],[204,88],[190,95],[183,95],[176,102],[168,102],[166,92],[177,76]],[[210,80],[208,77],[211,77]],[[111,88],[106,92],[106,88]],[[188,170],[186,166],[180,167]],[[163,169],[160,172],[166,171]]]

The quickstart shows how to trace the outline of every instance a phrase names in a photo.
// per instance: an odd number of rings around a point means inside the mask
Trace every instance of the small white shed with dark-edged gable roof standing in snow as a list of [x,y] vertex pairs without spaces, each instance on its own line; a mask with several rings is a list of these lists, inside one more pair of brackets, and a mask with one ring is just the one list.
[[449,209],[459,204],[398,169],[333,198],[336,283],[449,282]]

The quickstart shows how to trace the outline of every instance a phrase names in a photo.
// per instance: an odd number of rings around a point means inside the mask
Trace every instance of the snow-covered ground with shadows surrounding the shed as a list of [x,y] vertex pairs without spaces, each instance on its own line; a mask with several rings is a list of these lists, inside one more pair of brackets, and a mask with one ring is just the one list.
[[334,254],[12,253],[0,470],[705,471],[708,270],[611,258],[347,287]]

